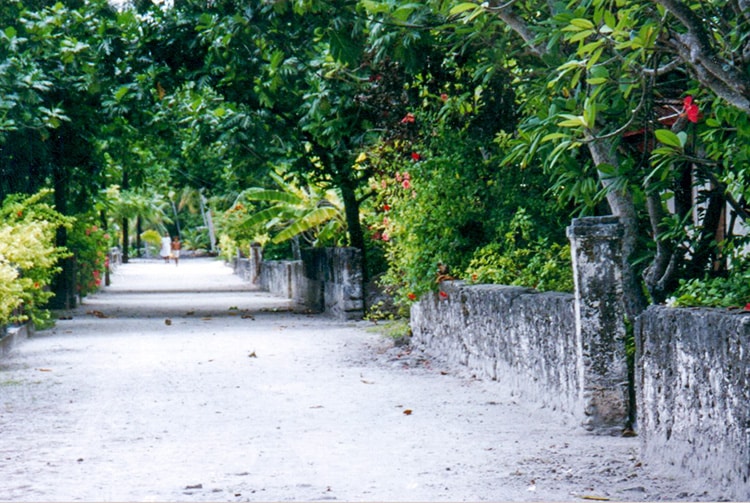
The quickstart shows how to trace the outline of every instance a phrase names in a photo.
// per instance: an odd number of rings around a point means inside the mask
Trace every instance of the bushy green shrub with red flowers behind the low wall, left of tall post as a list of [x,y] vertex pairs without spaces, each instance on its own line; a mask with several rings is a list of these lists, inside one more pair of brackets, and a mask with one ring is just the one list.
[[[543,250],[547,240],[561,239],[559,222],[564,213],[545,201],[535,181],[541,173],[501,169],[489,150],[451,130],[437,134],[424,148],[415,152],[418,159],[410,156],[410,161],[401,162],[403,171],[373,185],[377,197],[370,232],[385,247],[389,269],[383,282],[395,290],[398,301],[408,303],[434,290],[439,266],[455,277],[468,279],[467,274],[481,273],[493,279],[490,262],[499,248],[491,243],[503,240],[508,223],[523,204],[529,209],[516,222],[531,226],[533,220],[538,241],[525,249],[514,241],[513,249],[507,253],[504,249],[506,268],[536,267],[543,276],[532,280],[529,270],[526,284],[566,287],[560,265],[564,247]],[[480,257],[486,261],[484,267]]]

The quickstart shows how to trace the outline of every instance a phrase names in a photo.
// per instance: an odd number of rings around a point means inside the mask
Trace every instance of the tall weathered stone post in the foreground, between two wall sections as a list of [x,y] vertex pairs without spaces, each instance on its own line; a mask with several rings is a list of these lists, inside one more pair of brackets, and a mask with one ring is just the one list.
[[575,218],[567,229],[573,256],[576,338],[583,426],[620,433],[628,420],[623,228],[617,217]]

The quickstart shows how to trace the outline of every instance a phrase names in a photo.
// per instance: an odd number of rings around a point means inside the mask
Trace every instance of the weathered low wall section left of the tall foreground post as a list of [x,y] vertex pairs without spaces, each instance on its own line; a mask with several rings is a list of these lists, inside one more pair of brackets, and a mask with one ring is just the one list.
[[572,295],[446,281],[412,306],[411,329],[428,353],[584,419]]

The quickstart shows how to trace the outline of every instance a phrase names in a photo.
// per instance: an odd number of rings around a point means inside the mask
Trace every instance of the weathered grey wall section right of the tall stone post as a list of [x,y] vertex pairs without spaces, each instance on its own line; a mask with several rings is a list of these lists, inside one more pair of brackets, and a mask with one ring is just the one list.
[[645,462],[750,500],[750,313],[652,306],[635,337]]

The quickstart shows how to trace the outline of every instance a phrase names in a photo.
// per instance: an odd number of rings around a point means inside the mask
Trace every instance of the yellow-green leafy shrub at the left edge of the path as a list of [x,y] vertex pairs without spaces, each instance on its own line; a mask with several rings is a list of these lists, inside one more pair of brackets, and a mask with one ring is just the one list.
[[43,325],[49,318],[47,287],[67,255],[55,246],[55,234],[72,222],[45,202],[50,192],[8,196],[0,207],[0,324]]

